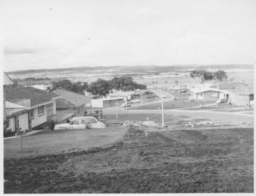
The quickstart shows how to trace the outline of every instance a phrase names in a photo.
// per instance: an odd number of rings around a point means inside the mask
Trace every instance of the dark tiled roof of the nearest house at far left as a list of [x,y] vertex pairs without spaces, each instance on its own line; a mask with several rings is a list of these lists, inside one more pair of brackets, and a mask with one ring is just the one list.
[[23,88],[6,88],[5,89],[5,99],[30,99],[30,106],[36,106],[38,104],[51,101],[53,98],[59,97],[58,95],[46,92],[33,87],[23,87]]

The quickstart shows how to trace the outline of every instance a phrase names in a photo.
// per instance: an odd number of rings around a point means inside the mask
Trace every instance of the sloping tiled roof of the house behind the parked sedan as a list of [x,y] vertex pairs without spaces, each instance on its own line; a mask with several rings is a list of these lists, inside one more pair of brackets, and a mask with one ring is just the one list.
[[91,98],[84,96],[84,95],[79,95],[77,93],[73,93],[71,91],[57,89],[53,92],[56,95],[61,96],[61,98],[64,98],[64,99],[68,100],[69,102],[73,103],[76,107],[79,107],[86,103],[91,103]]

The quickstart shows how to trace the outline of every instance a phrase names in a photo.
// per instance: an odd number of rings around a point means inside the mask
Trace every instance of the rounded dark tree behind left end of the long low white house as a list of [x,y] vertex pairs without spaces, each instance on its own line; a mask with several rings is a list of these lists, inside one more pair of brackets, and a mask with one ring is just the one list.
[[98,98],[105,97],[109,94],[109,92],[112,89],[111,81],[106,81],[103,79],[99,79],[95,82],[92,82],[87,87],[87,92],[92,93],[93,95],[96,95]]

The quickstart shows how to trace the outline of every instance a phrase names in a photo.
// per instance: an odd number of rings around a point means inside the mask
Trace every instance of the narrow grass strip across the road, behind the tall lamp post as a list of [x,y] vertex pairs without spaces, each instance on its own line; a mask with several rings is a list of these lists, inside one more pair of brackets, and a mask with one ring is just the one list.
[[[201,105],[214,103],[212,101],[200,102]],[[182,100],[172,100],[163,102],[164,110],[178,109],[178,108],[188,108],[188,107],[198,107],[199,102],[195,101],[182,101]],[[158,110],[161,109],[161,102],[153,103],[148,105],[136,106],[128,108],[127,110]]]

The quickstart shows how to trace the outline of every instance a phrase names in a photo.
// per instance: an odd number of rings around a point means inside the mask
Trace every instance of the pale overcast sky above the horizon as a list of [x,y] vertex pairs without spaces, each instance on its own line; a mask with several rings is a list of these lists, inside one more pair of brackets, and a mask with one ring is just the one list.
[[5,71],[253,64],[256,0],[5,0]]

